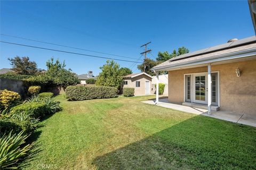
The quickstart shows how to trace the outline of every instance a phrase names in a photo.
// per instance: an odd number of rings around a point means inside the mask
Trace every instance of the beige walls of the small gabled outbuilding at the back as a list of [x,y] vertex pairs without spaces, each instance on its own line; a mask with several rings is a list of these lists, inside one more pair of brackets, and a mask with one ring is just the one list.
[[[132,87],[134,88],[134,95],[145,95],[145,84],[146,81],[149,81],[149,89],[150,89],[150,94],[152,91],[152,80],[150,77],[148,77],[145,74],[139,75],[135,78],[125,78],[124,81],[128,81],[127,85],[124,85],[125,87]],[[140,81],[140,87],[136,87],[136,81]]]

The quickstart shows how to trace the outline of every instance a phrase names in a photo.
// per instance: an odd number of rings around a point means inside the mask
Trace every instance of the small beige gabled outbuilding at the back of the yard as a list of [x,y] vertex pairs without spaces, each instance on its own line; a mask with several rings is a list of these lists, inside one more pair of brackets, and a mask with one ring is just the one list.
[[152,77],[147,73],[135,73],[124,76],[124,88],[134,88],[134,95],[149,95],[152,91]]

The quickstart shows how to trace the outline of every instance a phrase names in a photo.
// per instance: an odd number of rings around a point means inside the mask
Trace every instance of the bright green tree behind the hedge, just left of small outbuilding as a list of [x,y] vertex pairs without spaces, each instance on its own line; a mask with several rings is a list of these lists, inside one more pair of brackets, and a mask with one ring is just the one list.
[[107,64],[100,67],[101,73],[96,81],[97,86],[115,87],[118,90],[121,89],[123,83],[123,77],[119,72],[119,64],[116,62],[107,60]]

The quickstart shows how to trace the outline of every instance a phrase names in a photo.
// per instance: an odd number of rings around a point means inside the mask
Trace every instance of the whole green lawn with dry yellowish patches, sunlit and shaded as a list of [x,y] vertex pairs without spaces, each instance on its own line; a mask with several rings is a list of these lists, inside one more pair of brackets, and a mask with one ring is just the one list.
[[24,169],[256,169],[256,128],[140,102],[153,97],[56,97]]

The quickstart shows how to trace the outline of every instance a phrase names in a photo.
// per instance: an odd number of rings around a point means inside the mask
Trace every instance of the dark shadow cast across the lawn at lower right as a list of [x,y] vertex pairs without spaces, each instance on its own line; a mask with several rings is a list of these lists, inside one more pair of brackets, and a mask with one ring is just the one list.
[[[144,124],[146,131],[158,127]],[[256,169],[255,144],[255,128],[195,116],[97,157],[93,165],[98,169]]]

